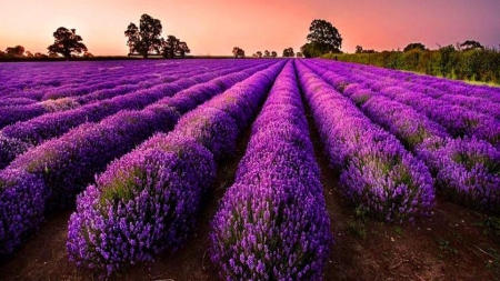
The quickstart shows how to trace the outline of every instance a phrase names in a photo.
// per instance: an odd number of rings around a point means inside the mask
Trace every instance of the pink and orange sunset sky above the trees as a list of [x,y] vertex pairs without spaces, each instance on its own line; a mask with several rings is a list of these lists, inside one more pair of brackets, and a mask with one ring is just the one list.
[[500,44],[500,0],[23,0],[1,4],[0,50],[21,44],[47,53],[52,33],[66,27],[94,56],[124,56],[123,32],[143,13],[196,56],[230,56],[233,47],[247,56],[299,51],[314,19],[339,30],[344,52],[402,50],[411,42],[437,49],[469,39]]

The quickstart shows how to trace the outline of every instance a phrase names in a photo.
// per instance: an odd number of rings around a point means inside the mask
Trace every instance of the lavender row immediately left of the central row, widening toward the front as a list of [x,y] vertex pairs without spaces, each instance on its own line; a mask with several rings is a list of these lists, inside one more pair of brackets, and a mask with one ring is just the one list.
[[194,225],[216,163],[236,150],[278,76],[273,64],[181,118],[112,162],[78,198],[68,251],[79,265],[106,273],[179,249]]

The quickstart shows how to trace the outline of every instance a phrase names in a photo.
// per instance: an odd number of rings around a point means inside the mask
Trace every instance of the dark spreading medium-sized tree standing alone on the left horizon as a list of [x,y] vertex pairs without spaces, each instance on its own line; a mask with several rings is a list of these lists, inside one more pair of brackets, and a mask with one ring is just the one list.
[[76,29],[69,30],[63,27],[58,28],[58,30],[53,32],[56,39],[53,44],[47,48],[49,53],[60,53],[69,60],[73,53],[80,54],[87,52],[87,46],[81,42],[83,39],[80,36],[77,36],[76,31]]

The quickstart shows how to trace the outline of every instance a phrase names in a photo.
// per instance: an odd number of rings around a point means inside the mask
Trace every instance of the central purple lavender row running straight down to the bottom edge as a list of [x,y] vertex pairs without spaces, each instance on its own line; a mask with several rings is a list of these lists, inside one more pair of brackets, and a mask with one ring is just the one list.
[[212,221],[211,259],[222,279],[321,279],[332,237],[296,80],[289,62]]

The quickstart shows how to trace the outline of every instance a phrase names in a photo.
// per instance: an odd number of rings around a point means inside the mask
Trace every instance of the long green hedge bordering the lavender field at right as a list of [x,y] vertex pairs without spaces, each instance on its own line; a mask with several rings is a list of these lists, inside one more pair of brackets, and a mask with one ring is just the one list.
[[[306,52],[304,56],[307,57]],[[313,57],[313,56],[311,56]],[[411,49],[406,52],[383,51],[322,56],[326,59],[358,62],[389,69],[414,71],[451,79],[500,83],[500,51],[496,49],[456,50],[453,46],[439,50]]]

